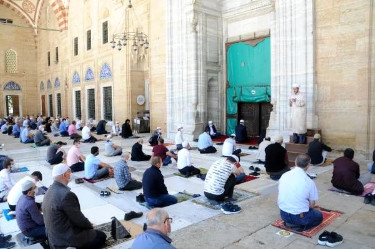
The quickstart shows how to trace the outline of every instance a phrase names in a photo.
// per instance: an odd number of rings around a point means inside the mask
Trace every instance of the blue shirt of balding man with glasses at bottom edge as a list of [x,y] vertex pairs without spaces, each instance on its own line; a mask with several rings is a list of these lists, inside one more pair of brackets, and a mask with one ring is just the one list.
[[168,236],[158,230],[147,228],[144,233],[136,237],[131,249],[175,249],[171,243],[172,239]]

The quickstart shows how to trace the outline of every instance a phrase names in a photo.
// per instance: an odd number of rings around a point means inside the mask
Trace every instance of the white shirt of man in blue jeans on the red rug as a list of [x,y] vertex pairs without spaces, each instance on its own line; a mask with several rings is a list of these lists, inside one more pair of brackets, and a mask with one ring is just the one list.
[[284,173],[279,180],[278,206],[292,215],[308,212],[309,201],[318,200],[317,186],[305,170],[295,167]]

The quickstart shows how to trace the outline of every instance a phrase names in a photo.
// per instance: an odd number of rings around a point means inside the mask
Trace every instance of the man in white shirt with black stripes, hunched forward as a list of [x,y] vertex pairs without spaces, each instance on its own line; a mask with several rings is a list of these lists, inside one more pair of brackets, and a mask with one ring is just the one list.
[[236,185],[236,176],[241,173],[241,170],[237,168],[239,161],[239,157],[230,155],[225,161],[219,160],[212,164],[207,172],[203,188],[204,195],[208,200],[214,202],[236,201],[233,198],[233,191],[234,185]]

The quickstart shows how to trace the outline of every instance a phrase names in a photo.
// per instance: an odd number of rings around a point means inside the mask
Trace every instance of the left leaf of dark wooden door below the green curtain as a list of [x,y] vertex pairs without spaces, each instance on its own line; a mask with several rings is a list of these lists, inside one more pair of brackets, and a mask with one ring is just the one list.
[[238,104],[238,122],[245,120],[248,136],[259,135],[259,103],[240,102]]

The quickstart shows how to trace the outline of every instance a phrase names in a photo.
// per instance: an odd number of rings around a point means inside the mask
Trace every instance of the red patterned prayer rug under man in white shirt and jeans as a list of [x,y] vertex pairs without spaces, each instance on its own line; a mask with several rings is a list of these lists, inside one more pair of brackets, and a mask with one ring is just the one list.
[[338,218],[340,215],[343,214],[342,212],[334,211],[334,210],[327,210],[327,209],[322,210],[320,207],[318,209],[320,209],[320,212],[322,212],[322,214],[323,214],[323,222],[316,227],[310,228],[309,230],[298,232],[298,231],[295,231],[295,230],[290,229],[288,227],[285,227],[285,222],[282,219],[279,219],[279,220],[273,222],[272,225],[274,227],[278,227],[278,228],[281,228],[283,230],[291,231],[293,233],[297,233],[297,234],[300,234],[302,236],[312,238],[320,230],[322,230],[327,225],[331,224],[333,221],[335,221],[336,218]]

